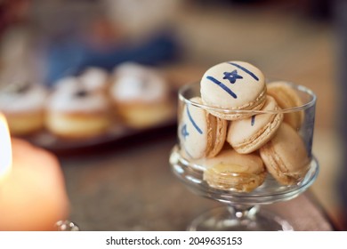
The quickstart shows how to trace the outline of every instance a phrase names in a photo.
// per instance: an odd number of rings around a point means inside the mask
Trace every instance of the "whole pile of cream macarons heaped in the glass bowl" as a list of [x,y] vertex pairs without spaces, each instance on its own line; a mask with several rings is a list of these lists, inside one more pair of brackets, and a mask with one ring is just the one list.
[[182,108],[179,138],[210,187],[250,192],[269,174],[281,185],[303,180],[310,163],[298,133],[303,110],[281,111],[303,104],[293,87],[266,84],[259,68],[228,61],[206,71],[200,93]]

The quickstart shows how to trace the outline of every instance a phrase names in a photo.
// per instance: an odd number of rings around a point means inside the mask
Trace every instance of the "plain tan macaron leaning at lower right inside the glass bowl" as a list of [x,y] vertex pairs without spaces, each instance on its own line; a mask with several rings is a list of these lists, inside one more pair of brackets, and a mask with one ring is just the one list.
[[303,139],[289,124],[282,123],[276,135],[259,149],[268,172],[283,185],[301,181],[309,169],[310,159]]

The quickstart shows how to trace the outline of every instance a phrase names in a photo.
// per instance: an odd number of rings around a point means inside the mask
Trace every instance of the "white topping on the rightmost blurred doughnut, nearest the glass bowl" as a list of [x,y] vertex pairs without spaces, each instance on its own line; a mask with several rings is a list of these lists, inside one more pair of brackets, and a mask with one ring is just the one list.
[[128,62],[115,69],[110,94],[117,101],[155,102],[167,93],[164,77],[154,68]]

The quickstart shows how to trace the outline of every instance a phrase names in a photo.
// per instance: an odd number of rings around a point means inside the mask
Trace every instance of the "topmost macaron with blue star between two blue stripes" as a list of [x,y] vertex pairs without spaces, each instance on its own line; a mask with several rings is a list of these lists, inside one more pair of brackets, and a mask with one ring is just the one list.
[[227,111],[209,110],[214,116],[235,120],[245,113],[229,110],[262,108],[266,97],[265,77],[259,68],[244,61],[228,61],[207,69],[200,81],[204,104]]

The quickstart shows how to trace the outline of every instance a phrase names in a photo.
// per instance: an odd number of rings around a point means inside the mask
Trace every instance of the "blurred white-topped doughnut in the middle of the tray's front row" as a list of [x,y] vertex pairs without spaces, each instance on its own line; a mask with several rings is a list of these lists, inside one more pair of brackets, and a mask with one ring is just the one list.
[[46,107],[46,128],[64,138],[91,138],[109,128],[109,101],[101,92],[93,92],[69,77],[58,85]]

